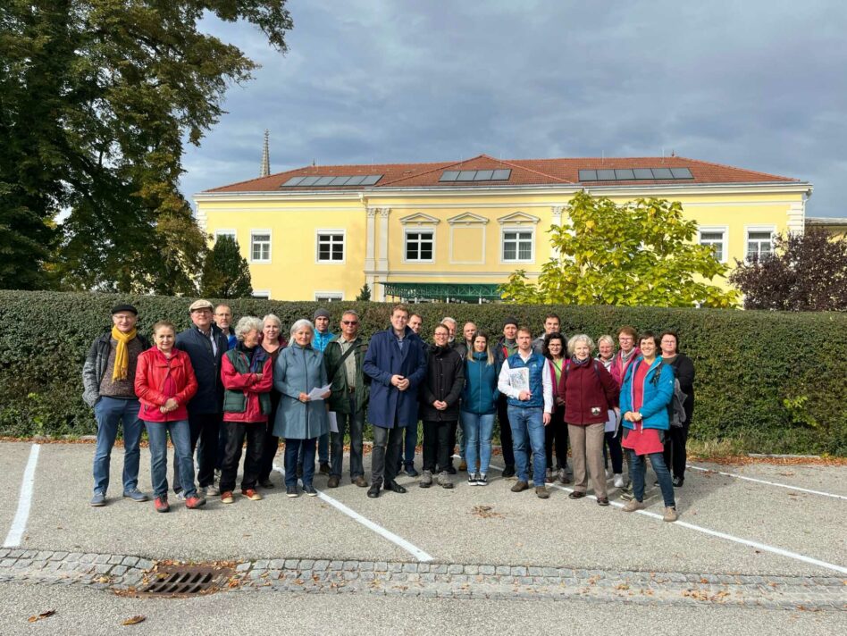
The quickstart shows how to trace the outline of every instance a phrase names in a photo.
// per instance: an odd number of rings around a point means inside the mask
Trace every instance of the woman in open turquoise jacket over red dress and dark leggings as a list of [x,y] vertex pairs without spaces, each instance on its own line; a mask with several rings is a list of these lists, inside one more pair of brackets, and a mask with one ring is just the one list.
[[650,458],[653,472],[665,500],[665,521],[676,521],[674,485],[667,471],[665,435],[670,428],[668,406],[674,397],[674,369],[657,356],[659,339],[650,331],[639,339],[641,355],[629,365],[621,387],[620,406],[623,414],[622,446],[632,457],[634,498],[624,506],[631,513],[644,507],[644,456]]

